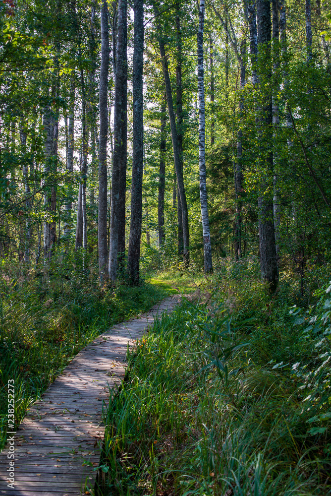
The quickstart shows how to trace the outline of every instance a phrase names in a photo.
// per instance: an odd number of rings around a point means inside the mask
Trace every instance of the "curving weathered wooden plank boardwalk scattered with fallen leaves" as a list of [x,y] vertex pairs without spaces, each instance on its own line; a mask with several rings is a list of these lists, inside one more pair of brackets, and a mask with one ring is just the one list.
[[124,377],[128,346],[180,297],[114,325],[84,348],[32,405],[15,434],[15,482],[8,487],[8,446],[0,453],[0,495],[90,494],[104,437],[102,412],[110,389]]

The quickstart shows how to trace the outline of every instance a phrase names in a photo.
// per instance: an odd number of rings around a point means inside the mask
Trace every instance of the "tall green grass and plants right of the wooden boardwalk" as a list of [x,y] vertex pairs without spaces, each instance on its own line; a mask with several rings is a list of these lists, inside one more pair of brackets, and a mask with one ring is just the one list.
[[331,494],[330,302],[307,331],[313,310],[289,309],[285,285],[270,300],[248,279],[216,274],[130,355],[99,494]]

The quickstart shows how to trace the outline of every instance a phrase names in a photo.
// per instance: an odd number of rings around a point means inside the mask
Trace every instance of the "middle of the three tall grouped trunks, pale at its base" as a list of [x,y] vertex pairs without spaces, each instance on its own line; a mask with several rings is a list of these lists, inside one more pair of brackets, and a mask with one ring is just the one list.
[[[127,146],[127,27],[126,0],[118,1],[116,77],[114,99],[114,155],[111,179],[109,276],[116,279],[117,254],[124,251]],[[124,238],[125,241],[125,238]]]

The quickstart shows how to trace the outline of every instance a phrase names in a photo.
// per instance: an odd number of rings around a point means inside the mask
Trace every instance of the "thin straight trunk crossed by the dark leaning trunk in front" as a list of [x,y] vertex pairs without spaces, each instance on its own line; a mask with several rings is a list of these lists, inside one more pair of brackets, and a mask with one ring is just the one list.
[[[182,88],[182,37],[180,28],[180,9],[176,4],[176,114],[177,114],[177,141],[179,151],[179,162],[181,174],[183,174],[183,88]],[[178,219],[178,255],[181,258],[184,254],[184,234],[183,234],[183,211],[181,208],[180,195],[177,194],[177,219]]]

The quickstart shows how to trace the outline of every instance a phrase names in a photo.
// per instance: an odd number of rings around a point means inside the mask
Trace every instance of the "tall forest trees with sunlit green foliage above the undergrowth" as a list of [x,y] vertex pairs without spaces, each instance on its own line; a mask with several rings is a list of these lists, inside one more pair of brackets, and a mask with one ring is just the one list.
[[272,291],[329,260],[327,3],[0,9],[2,258],[81,248],[136,284],[140,246],[154,268],[253,255]]

